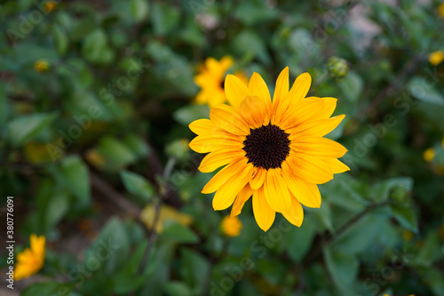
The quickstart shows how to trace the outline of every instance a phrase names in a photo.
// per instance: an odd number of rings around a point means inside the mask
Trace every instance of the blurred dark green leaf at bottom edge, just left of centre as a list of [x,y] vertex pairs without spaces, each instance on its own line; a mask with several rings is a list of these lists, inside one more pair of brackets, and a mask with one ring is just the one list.
[[210,263],[198,252],[182,249],[181,273],[193,294],[201,295],[210,276]]

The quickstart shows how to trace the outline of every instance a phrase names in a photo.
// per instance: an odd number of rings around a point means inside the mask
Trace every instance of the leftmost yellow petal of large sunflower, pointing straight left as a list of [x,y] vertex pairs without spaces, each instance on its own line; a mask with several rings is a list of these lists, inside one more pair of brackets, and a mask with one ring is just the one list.
[[218,132],[197,136],[188,146],[197,153],[207,153],[217,149],[242,148],[242,137],[229,132]]

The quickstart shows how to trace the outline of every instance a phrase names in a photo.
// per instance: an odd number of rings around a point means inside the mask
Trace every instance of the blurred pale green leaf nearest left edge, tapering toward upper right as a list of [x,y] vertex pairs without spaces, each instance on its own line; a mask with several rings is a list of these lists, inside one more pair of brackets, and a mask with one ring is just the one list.
[[31,140],[37,133],[50,126],[57,116],[57,113],[37,113],[12,119],[7,127],[11,144],[19,146],[25,141]]

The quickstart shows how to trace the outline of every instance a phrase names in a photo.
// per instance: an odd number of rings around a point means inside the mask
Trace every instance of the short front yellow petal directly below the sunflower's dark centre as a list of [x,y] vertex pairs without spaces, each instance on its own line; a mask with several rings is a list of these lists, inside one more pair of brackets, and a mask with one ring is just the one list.
[[264,193],[266,202],[275,212],[285,212],[291,206],[289,189],[281,177],[281,169],[271,169],[266,172]]

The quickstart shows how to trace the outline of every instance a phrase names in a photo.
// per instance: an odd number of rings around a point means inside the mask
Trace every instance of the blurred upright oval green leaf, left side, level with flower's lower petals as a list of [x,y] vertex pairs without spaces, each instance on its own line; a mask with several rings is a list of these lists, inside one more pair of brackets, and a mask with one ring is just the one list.
[[67,189],[82,205],[90,204],[90,175],[88,167],[79,156],[67,156],[60,165]]

